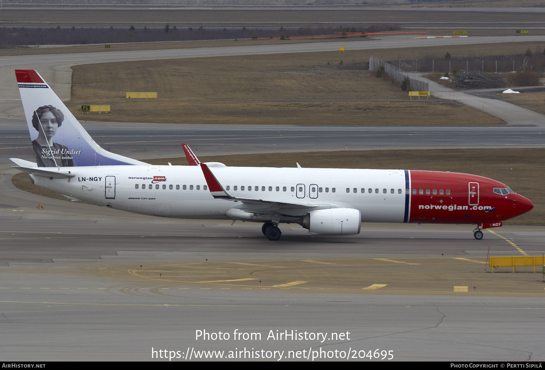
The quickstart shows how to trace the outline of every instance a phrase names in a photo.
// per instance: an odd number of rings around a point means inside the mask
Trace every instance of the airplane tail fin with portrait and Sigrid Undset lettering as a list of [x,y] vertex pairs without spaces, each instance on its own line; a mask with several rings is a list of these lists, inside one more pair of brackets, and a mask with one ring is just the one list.
[[15,70],[37,167],[147,164],[102,149],[35,70]]

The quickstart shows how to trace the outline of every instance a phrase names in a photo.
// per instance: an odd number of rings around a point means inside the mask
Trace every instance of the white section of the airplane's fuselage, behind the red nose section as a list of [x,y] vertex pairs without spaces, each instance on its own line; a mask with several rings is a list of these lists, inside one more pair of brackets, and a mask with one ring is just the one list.
[[[358,209],[362,222],[403,223],[406,185],[403,170],[263,167],[212,170],[234,197],[336,204]],[[227,212],[239,204],[214,199],[198,166],[65,167],[62,171],[70,171],[75,177],[50,180],[33,176],[33,179],[39,186],[73,198],[149,215],[232,219]],[[310,209],[299,209],[292,215],[302,217]]]

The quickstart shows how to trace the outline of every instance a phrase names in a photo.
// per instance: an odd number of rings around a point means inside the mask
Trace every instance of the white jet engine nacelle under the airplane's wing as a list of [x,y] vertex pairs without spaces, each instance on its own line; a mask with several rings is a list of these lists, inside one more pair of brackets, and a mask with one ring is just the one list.
[[361,212],[352,208],[329,208],[310,211],[303,227],[312,234],[355,235],[361,230]]

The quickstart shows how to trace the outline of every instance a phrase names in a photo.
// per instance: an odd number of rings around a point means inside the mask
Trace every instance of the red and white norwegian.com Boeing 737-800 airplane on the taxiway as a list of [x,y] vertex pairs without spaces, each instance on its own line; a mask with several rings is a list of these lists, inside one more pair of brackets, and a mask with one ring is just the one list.
[[490,178],[437,171],[150,165],[102,149],[34,70],[16,70],[36,163],[12,158],[38,186],[123,211],[189,219],[280,223],[355,235],[362,222],[473,224],[530,211],[531,201]]

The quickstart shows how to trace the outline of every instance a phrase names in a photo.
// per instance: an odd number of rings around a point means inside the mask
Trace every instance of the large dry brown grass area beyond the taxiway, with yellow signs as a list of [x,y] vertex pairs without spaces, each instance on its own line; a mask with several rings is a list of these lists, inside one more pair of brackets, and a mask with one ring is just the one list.
[[[73,104],[69,108],[76,118],[117,122],[390,126],[503,123],[458,103],[410,101],[407,92],[369,71],[335,68],[341,59],[344,63],[358,63],[367,61],[369,54],[290,53],[78,65],[72,67],[72,100],[68,103]],[[158,91],[159,98],[128,100],[126,91]],[[365,99],[386,101],[349,101]],[[110,104],[112,113],[82,115],[81,104]]]

